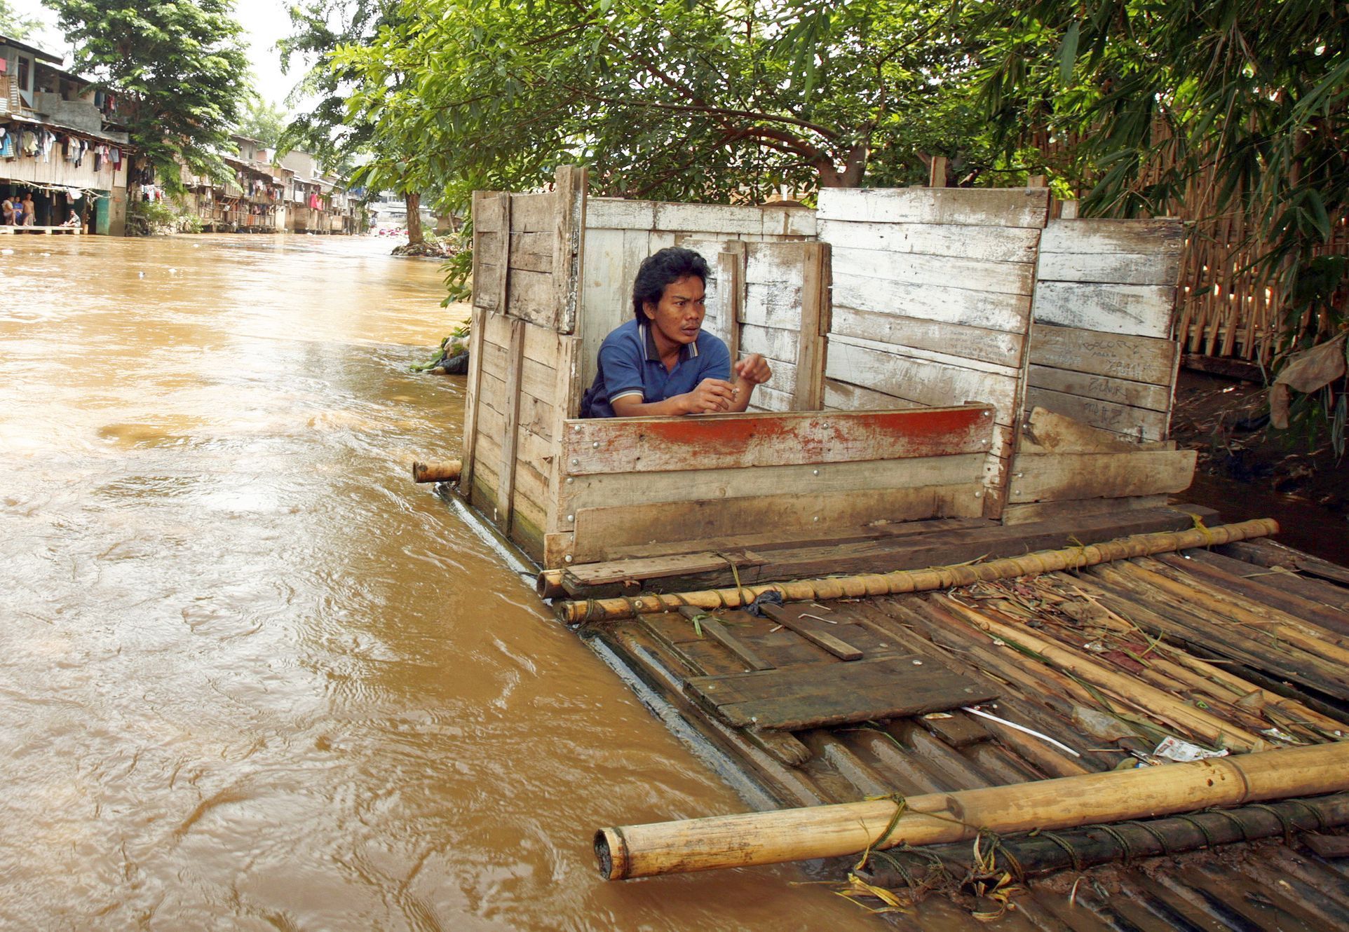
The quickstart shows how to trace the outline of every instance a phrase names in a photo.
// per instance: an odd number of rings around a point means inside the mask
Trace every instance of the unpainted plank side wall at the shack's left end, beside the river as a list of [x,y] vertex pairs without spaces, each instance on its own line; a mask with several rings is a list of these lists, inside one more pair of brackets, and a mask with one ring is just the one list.
[[554,448],[575,407],[584,173],[473,198],[473,328],[461,487],[526,553],[556,525]]

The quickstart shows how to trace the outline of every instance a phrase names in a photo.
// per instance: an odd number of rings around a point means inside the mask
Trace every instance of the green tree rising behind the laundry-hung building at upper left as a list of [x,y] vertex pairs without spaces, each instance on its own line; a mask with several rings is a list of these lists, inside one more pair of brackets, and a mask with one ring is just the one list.
[[243,27],[228,0],[45,0],[76,46],[74,70],[119,94],[117,120],[162,183],[190,170],[224,177],[251,92]]

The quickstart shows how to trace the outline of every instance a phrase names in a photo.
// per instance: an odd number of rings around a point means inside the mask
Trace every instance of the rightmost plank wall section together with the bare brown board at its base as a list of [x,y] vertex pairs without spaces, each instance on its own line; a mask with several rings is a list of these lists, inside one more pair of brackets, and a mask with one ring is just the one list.
[[1190,486],[1194,450],[1164,442],[1183,237],[1176,220],[1050,221],[1004,522],[1145,507]]

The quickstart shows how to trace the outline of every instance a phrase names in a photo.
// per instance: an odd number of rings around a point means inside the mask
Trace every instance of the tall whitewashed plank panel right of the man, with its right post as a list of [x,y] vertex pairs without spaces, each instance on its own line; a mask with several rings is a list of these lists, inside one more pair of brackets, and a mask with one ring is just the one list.
[[1004,502],[1048,206],[1044,189],[820,192],[832,250],[824,406],[993,405],[987,517]]

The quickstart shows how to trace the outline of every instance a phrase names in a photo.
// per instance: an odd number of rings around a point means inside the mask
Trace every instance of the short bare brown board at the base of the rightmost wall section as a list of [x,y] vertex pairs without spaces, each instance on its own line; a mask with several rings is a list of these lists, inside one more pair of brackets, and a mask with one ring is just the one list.
[[1182,492],[1194,480],[1195,450],[1017,453],[1008,502],[1055,502]]

